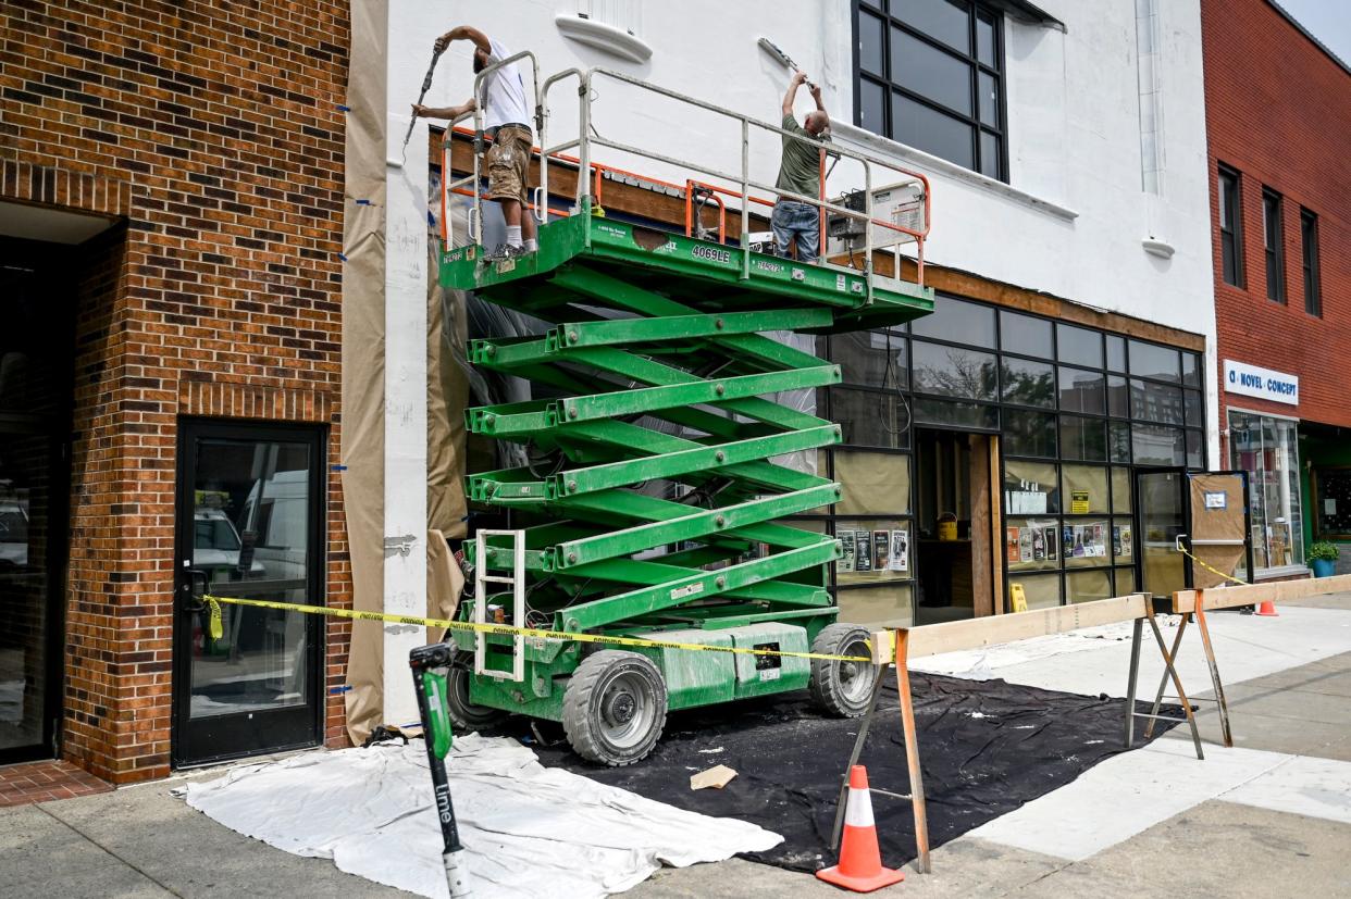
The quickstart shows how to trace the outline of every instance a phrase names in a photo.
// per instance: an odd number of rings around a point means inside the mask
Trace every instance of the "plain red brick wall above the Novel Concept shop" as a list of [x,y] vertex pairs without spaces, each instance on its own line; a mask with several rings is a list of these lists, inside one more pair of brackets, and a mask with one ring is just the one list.
[[[1201,0],[1221,428],[1228,405],[1351,425],[1351,74],[1266,0]],[[1220,270],[1217,163],[1243,175],[1247,286]],[[1262,188],[1282,194],[1286,305],[1267,300]],[[1319,216],[1323,317],[1304,310],[1300,207]],[[1223,360],[1300,377],[1300,405],[1224,394]]]

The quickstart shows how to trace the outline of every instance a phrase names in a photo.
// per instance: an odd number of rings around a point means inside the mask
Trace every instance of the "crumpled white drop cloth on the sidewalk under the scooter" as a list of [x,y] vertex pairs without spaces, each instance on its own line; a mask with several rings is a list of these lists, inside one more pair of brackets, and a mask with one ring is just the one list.
[[[720,861],[784,840],[544,768],[505,737],[457,736],[446,761],[476,898],[604,896],[642,883],[663,863]],[[236,768],[190,784],[186,800],[278,849],[447,896],[420,740]]]

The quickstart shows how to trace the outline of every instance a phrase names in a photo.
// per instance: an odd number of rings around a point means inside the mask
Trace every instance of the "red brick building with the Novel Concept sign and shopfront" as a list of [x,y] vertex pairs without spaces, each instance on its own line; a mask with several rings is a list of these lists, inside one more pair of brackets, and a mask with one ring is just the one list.
[[1294,574],[1351,540],[1351,70],[1267,0],[1201,22],[1221,460],[1252,478],[1258,574]]

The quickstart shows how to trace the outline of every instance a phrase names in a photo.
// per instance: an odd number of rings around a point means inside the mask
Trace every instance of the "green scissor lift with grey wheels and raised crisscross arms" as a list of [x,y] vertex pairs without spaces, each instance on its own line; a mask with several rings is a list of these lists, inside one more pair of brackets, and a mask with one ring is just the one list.
[[[532,462],[467,478],[470,501],[511,510],[517,530],[484,537],[486,557],[466,544],[480,586],[457,617],[867,655],[866,630],[836,624],[825,590],[839,543],[775,522],[839,499],[840,485],[771,459],[839,443],[840,428],[766,397],[838,383],[840,370],[762,332],[898,324],[931,312],[932,290],[582,209],[543,225],[539,252],[485,262],[481,247],[461,247],[442,259],[444,286],[553,325],[470,344],[473,364],[547,398],[466,413],[471,433],[528,444]],[[519,584],[508,576],[517,551]],[[467,630],[449,640],[457,725],[503,713],[559,721],[580,755],[612,765],[651,752],[667,710],[811,687],[854,715],[873,678],[847,661]]]

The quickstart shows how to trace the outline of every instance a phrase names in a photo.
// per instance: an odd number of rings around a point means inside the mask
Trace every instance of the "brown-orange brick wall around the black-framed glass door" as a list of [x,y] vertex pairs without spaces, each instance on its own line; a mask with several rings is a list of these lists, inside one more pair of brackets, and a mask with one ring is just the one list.
[[[181,414],[328,424],[338,462],[347,4],[5,0],[0,198],[119,216],[73,252],[62,751],[169,769]],[[328,605],[351,602],[335,474]],[[328,686],[350,625],[328,624]],[[346,742],[342,697],[326,737]]]

